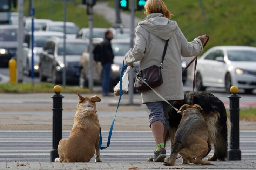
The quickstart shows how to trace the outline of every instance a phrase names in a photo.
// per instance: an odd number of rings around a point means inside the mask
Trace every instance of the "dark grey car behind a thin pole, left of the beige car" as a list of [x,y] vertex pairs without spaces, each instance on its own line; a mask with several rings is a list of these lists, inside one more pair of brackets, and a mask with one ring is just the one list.
[[49,39],[39,59],[39,77],[41,81],[52,78],[54,84],[62,82],[62,70],[66,69],[67,82],[78,83],[79,69],[78,64],[80,56],[84,52],[88,41],[84,39],[67,39],[66,40],[66,66],[63,59],[63,39]]

